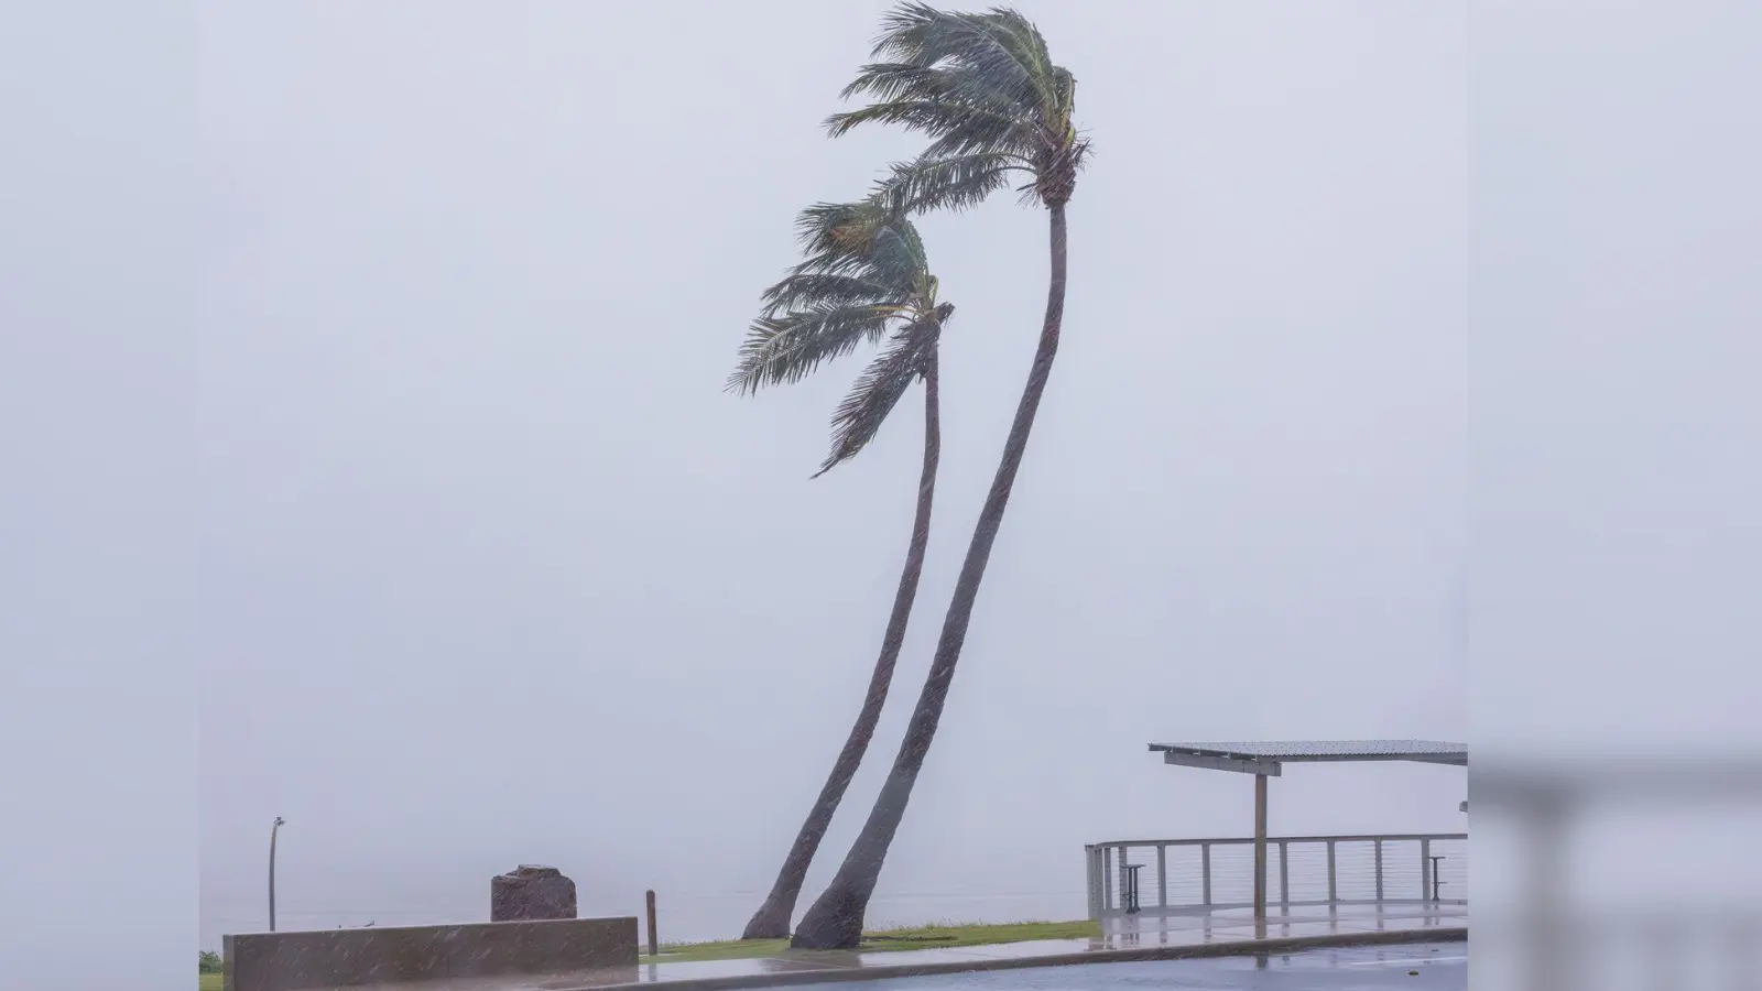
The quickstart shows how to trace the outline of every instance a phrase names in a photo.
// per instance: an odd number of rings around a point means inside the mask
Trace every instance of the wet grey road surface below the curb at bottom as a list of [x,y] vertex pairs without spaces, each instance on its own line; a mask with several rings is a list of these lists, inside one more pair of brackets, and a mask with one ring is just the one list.
[[[798,984],[830,991],[851,984]],[[1346,947],[1265,957],[1094,963],[939,977],[892,977],[863,991],[1466,991],[1468,943]]]

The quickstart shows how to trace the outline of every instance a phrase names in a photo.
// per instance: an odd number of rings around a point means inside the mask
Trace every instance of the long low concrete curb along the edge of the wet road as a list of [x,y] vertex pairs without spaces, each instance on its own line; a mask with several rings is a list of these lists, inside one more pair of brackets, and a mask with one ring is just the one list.
[[1008,959],[904,963],[881,966],[844,966],[833,970],[800,970],[784,973],[742,973],[729,977],[682,977],[678,980],[636,980],[627,984],[592,984],[560,987],[557,991],[622,991],[634,987],[664,987],[668,991],[733,991],[740,987],[786,987],[796,984],[844,984],[855,980],[883,980],[888,977],[936,977],[941,973],[973,973],[985,970],[1024,970],[1031,966],[1077,966],[1085,963],[1149,963],[1163,959],[1210,959],[1225,956],[1288,954],[1334,947],[1387,947],[1401,943],[1461,943],[1468,942],[1468,926],[1441,926],[1436,929],[1397,929],[1388,933],[1337,933],[1327,936],[1276,936],[1267,940],[1233,940],[1226,943],[1196,943],[1186,947],[1138,947],[1128,950],[1087,950],[1073,954],[1024,956]]

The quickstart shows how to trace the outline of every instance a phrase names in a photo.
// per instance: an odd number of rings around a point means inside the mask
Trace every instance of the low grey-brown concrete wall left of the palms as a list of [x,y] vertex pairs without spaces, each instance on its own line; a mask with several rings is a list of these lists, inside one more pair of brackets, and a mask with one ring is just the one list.
[[226,936],[226,991],[559,973],[636,965],[636,917]]

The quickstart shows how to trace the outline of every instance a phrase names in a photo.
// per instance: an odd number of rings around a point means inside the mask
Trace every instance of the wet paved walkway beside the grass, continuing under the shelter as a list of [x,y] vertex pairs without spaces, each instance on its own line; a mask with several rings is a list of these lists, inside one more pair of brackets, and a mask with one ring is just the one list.
[[[756,959],[645,963],[594,972],[483,980],[425,980],[379,984],[352,991],[603,991],[633,986],[675,986],[678,991],[807,986],[879,977],[948,975],[1071,963],[1133,963],[1182,956],[1300,952],[1309,943],[1381,942],[1420,943],[1434,936],[1461,938],[1468,908],[1459,905],[1351,905],[1292,908],[1256,924],[1247,910],[1209,915],[1142,913],[1108,920],[1101,938],[1034,940],[983,947],[922,950],[791,950]],[[1404,973],[1404,972],[1403,972]],[[659,991],[659,989],[657,989]]]

